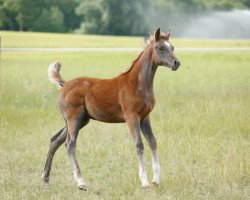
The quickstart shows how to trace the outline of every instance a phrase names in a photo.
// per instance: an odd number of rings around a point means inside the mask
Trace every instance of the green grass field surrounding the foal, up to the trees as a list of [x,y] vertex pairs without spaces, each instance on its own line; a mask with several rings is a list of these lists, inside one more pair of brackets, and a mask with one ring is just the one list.
[[[63,34],[0,35],[4,47],[99,47],[102,42],[102,47],[140,48],[142,41]],[[175,47],[250,46],[249,40],[176,39],[173,43]],[[81,75],[109,78],[129,67],[136,54],[1,53],[0,199],[249,199],[249,51],[176,52],[182,64],[178,71],[158,69],[151,119],[161,164],[159,187],[140,189],[136,153],[126,124],[96,121],[80,131],[77,143],[88,191],[77,189],[64,145],[54,158],[51,188],[43,186],[49,139],[64,123],[57,106],[58,89],[47,78],[48,64],[61,61],[66,80]],[[145,140],[144,144],[150,180],[151,157]]]

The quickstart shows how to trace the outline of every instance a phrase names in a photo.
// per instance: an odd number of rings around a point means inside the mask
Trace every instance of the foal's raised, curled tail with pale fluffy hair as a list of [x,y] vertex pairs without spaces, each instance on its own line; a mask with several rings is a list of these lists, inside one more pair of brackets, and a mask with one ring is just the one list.
[[60,86],[63,86],[64,83],[66,83],[61,75],[60,75],[60,69],[61,69],[62,64],[60,62],[53,62],[49,65],[48,68],[48,75],[49,75],[49,80],[52,83],[59,84]]

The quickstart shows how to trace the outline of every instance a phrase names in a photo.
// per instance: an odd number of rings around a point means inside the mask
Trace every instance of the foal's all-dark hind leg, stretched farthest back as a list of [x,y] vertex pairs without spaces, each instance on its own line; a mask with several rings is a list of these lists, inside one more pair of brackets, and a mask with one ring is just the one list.
[[52,160],[55,155],[56,150],[64,143],[67,136],[67,128],[62,128],[56,135],[50,139],[49,150],[47,154],[47,159],[44,166],[43,172],[43,182],[49,183],[49,175],[52,165]]

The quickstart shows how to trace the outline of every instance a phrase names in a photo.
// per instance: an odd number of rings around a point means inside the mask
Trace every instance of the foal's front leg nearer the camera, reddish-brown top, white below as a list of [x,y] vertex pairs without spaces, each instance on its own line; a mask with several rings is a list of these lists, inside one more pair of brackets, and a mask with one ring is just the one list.
[[128,124],[130,133],[135,142],[136,153],[139,162],[139,177],[141,179],[142,188],[148,188],[150,185],[147,179],[147,173],[144,165],[144,146],[141,139],[140,133],[140,118],[136,114],[125,115],[126,122]]

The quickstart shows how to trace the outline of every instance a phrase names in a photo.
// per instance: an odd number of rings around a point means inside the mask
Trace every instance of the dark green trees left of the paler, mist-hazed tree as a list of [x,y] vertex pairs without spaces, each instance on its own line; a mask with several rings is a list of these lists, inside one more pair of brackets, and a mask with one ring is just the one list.
[[[79,24],[77,0],[1,0],[0,29],[21,31],[72,31]],[[6,18],[5,18],[6,16]]]

